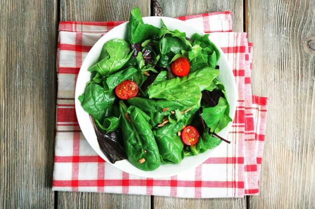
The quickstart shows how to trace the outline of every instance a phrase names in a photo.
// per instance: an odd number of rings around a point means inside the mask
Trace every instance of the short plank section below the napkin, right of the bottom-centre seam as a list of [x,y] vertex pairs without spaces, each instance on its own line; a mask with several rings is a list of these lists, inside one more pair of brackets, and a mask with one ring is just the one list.
[[194,199],[178,197],[154,196],[154,209],[173,209],[173,208],[246,208],[246,198],[214,198],[214,199]]

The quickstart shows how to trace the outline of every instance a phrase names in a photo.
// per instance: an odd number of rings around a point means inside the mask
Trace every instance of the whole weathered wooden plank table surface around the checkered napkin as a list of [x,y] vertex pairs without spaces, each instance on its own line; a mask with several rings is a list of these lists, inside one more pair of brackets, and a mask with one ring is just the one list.
[[[188,2],[188,3],[187,3]],[[270,98],[260,194],[188,199],[51,190],[59,21],[215,11],[254,43],[253,93]],[[0,208],[315,208],[314,0],[0,2]]]

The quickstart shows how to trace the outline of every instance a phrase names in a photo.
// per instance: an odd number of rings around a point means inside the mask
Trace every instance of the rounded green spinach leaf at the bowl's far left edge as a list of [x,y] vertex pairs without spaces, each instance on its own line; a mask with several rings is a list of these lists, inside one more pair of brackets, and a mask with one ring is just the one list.
[[106,92],[105,89],[94,83],[89,83],[83,95],[79,97],[83,108],[92,114],[94,119],[104,121],[111,115],[112,104],[115,101],[113,91]]

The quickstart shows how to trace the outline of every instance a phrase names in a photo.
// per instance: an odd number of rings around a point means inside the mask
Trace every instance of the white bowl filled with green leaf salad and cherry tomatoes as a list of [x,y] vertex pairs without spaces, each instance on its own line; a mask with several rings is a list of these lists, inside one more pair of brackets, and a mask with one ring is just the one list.
[[229,143],[236,104],[233,73],[209,34],[173,18],[142,18],[138,8],[93,46],[75,88],[92,148],[145,177],[176,175]]

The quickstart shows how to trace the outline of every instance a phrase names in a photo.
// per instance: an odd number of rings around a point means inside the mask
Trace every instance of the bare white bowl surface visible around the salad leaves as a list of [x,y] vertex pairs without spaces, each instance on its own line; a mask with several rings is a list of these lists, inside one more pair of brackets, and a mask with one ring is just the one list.
[[[185,23],[183,21],[166,18],[166,17],[144,17],[143,22],[147,24],[151,24],[155,27],[161,28],[162,23],[161,19],[164,21],[166,26],[175,30],[178,29],[181,32],[185,32],[187,37],[191,37],[193,34],[198,33],[200,35],[204,35],[205,33],[194,28],[193,26]],[[91,73],[88,71],[88,68],[97,63],[99,56],[101,54],[101,50],[103,45],[113,39],[125,39],[128,37],[128,22],[123,23],[107,34],[105,34],[90,50],[86,59],[84,60],[80,72],[77,76],[76,86],[75,86],[75,111],[78,123],[80,124],[82,133],[85,138],[88,140],[92,148],[104,159],[106,162],[110,163],[108,158],[100,149],[100,146],[97,141],[96,134],[94,132],[94,128],[90,119],[89,114],[83,109],[81,106],[81,102],[78,100],[78,96],[82,95],[85,91],[87,83],[91,80]],[[212,41],[212,40],[211,40]],[[213,41],[212,41],[213,42]],[[215,42],[213,42],[215,44]],[[218,61],[218,65],[220,66],[220,75],[218,76],[218,80],[224,84],[227,100],[230,105],[229,115],[233,119],[235,115],[236,105],[237,105],[237,88],[235,86],[234,75],[232,70],[230,69],[229,63],[227,61],[226,56],[222,52],[220,48],[218,48],[221,56]],[[227,127],[225,127],[218,134],[222,137],[226,137],[232,122],[230,122]],[[215,148],[214,148],[215,149]],[[119,168],[122,171],[127,173],[131,173],[134,175],[144,176],[144,177],[166,177],[176,175],[185,170],[198,166],[202,162],[204,162],[209,157],[213,157],[213,149],[209,149],[204,153],[185,157],[180,164],[162,164],[159,168],[153,171],[143,171],[136,167],[134,167],[127,159],[117,161],[112,164],[116,168]]]

